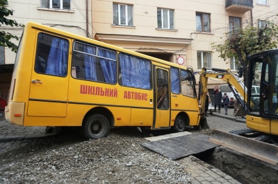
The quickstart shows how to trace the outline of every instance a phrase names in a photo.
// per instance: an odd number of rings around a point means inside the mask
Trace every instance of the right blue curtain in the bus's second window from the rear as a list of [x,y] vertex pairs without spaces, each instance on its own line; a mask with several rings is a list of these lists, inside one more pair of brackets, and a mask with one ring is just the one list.
[[[98,56],[100,56],[100,64],[101,64],[102,73],[104,74],[105,82],[115,84],[116,72],[117,72],[116,53],[111,50],[98,48]],[[108,59],[102,57],[106,57]]]

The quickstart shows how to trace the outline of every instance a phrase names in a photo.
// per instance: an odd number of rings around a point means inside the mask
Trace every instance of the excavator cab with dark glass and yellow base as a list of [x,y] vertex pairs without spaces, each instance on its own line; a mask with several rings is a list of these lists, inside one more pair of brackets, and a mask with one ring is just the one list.
[[247,94],[247,127],[278,135],[278,49],[252,55],[248,74],[248,89],[256,81],[260,93]]

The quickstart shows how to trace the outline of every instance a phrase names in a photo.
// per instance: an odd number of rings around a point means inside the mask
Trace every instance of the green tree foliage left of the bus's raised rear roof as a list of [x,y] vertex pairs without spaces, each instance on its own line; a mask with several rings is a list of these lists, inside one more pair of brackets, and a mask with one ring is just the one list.
[[[10,15],[13,15],[13,10],[8,10],[6,6],[8,6],[8,0],[0,0],[0,26],[6,25],[11,27],[23,27],[23,24],[18,24],[17,21],[6,18]],[[11,48],[12,51],[16,53],[17,45],[12,42],[12,39],[19,40],[19,37],[5,32],[3,29],[0,30],[0,46]]]

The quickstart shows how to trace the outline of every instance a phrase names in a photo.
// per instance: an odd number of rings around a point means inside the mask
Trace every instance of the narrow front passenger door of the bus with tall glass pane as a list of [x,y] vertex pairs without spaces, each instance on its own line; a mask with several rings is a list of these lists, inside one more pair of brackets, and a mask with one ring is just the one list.
[[154,86],[154,123],[153,129],[170,127],[170,91],[169,91],[169,70],[155,66],[156,84]]

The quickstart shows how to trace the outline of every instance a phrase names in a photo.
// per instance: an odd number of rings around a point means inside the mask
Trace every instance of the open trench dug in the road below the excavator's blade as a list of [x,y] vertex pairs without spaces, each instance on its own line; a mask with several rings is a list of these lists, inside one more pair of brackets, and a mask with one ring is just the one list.
[[278,183],[278,167],[226,147],[194,155],[240,183]]

